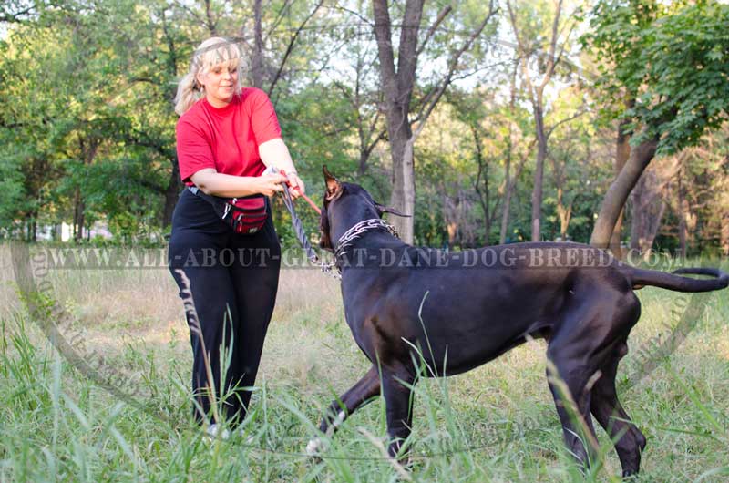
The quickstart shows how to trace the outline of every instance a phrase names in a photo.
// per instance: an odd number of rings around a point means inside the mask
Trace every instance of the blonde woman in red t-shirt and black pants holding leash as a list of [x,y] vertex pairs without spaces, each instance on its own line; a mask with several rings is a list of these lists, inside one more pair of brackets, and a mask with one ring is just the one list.
[[[193,54],[175,98],[180,178],[188,187],[222,198],[272,196],[288,181],[298,197],[303,182],[281,139],[272,103],[260,89],[241,88],[241,67],[238,46],[221,37],[209,38]],[[266,167],[284,170],[286,176],[262,174]],[[239,234],[208,200],[188,189],[180,194],[172,216],[169,268],[180,297],[183,284],[176,269],[190,280],[203,335],[201,341],[188,311],[195,415],[198,421],[209,418],[208,431],[215,435],[220,421],[212,416],[218,412],[211,403],[220,405],[221,396],[219,416],[232,425],[245,416],[276,299],[281,247],[270,216],[261,231]],[[222,375],[221,348],[230,354]]]

